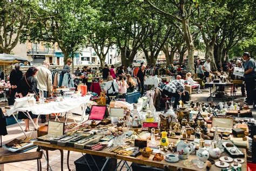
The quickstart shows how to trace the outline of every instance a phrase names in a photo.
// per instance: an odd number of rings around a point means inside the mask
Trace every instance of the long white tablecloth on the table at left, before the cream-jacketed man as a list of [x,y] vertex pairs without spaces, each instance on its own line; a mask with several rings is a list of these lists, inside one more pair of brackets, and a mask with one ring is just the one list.
[[[86,105],[87,102],[90,101],[91,96],[85,97],[77,97],[77,98],[64,98],[61,102],[50,102],[44,104],[35,104],[26,108],[17,108],[6,110],[8,116],[12,115],[12,113],[16,111],[31,111],[35,115],[48,115],[51,113],[63,113],[63,112],[71,112],[78,113],[83,115],[82,107]],[[14,106],[15,108],[15,106]]]

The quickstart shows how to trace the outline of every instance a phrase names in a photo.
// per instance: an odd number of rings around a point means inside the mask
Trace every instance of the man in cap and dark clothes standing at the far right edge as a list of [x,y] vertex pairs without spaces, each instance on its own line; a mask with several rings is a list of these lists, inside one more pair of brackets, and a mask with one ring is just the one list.
[[253,104],[253,90],[255,89],[255,62],[251,59],[251,55],[248,52],[242,54],[242,58],[245,60],[244,63],[244,79],[247,99],[245,103],[247,105]]

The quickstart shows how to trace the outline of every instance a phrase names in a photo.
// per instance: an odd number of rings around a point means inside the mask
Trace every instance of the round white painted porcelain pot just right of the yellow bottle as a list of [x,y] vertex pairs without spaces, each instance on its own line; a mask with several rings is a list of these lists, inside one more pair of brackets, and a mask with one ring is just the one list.
[[187,159],[188,155],[193,152],[193,145],[187,144],[183,140],[177,144],[177,152],[180,159]]

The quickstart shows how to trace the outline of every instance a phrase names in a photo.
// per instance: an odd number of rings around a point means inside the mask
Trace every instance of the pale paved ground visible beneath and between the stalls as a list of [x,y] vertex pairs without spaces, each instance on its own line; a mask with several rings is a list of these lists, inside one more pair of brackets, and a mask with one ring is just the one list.
[[[228,89],[227,89],[227,92],[230,92],[230,91],[228,91]],[[209,96],[208,90],[204,90],[203,94],[192,94],[191,100],[194,102],[206,102],[206,99],[208,96]],[[239,97],[239,95],[238,95],[238,97]],[[218,103],[219,101],[221,101],[221,100],[214,98],[214,103]],[[256,110],[252,109],[252,111],[253,111],[254,118],[256,118]],[[77,121],[80,120],[80,116],[75,116],[75,118]],[[69,120],[69,122],[72,122],[72,120]],[[24,122],[22,122],[21,125],[24,127]],[[8,133],[9,134],[7,136],[3,137],[3,143],[9,142],[10,140],[12,140],[14,138],[24,137],[23,132],[19,129],[17,124],[8,126]],[[31,134],[31,132],[29,132],[27,134]],[[36,136],[35,132],[32,132],[31,137],[35,137],[35,136]],[[36,149],[32,149],[30,152],[32,152],[32,151],[36,151]],[[1,155],[7,154],[7,153],[9,153],[9,152],[6,152],[6,150],[4,148],[0,148]],[[70,153],[70,168],[72,170],[75,170],[75,165],[74,165],[73,161],[77,160],[81,156],[82,156],[81,153],[77,153],[77,152]],[[68,170],[68,167],[66,165],[66,162],[67,162],[66,157],[67,157],[67,152],[65,151],[64,152],[64,170]],[[52,170],[60,170],[59,151],[50,151],[49,158],[50,158],[50,165],[52,166]],[[42,161],[43,170],[46,170],[46,160],[45,160],[44,156],[41,161]],[[37,163],[36,163],[36,161],[9,163],[9,164],[4,165],[4,170],[7,170],[7,171],[9,171],[9,170],[10,171],[12,171],[12,170],[15,170],[15,171],[37,170]]]

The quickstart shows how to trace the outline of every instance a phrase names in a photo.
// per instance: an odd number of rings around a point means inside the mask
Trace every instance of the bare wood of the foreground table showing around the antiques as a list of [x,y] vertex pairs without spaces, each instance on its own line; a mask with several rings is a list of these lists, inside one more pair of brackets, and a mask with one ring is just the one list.
[[[177,139],[170,139],[169,142],[171,141],[177,141]],[[191,170],[206,170],[205,168],[199,169],[197,166],[192,166],[192,167],[186,167],[183,164],[184,160],[180,160],[177,163],[169,163],[166,162],[165,160],[162,160],[160,162],[158,161],[153,161],[154,155],[151,154],[150,158],[144,158],[142,155],[138,156],[137,158],[133,158],[131,156],[124,156],[116,153],[111,153],[108,152],[110,148],[104,149],[104,151],[92,151],[90,149],[78,149],[78,148],[73,148],[73,147],[62,147],[58,145],[53,145],[50,143],[44,143],[42,141],[35,141],[35,145],[41,146],[41,147],[50,147],[50,148],[56,148],[56,149],[63,149],[63,150],[68,150],[68,151],[74,151],[74,152],[80,152],[80,153],[86,153],[86,154],[92,154],[92,155],[99,155],[99,156],[104,156],[106,158],[115,158],[118,160],[123,160],[123,161],[130,161],[134,163],[139,163],[147,166],[152,166],[152,167],[159,167],[159,168],[164,168],[165,166],[169,167],[171,170],[177,170],[177,168],[183,168],[184,171],[191,171]],[[246,156],[246,150],[244,148],[240,149]],[[222,153],[221,156],[228,156],[227,153]],[[188,160],[195,159],[196,155],[189,155]],[[246,158],[244,158],[245,162],[242,163],[242,169],[241,170],[246,170]],[[216,159],[215,161],[218,161]],[[216,167],[215,165],[212,165],[210,170],[221,170],[221,168]]]

